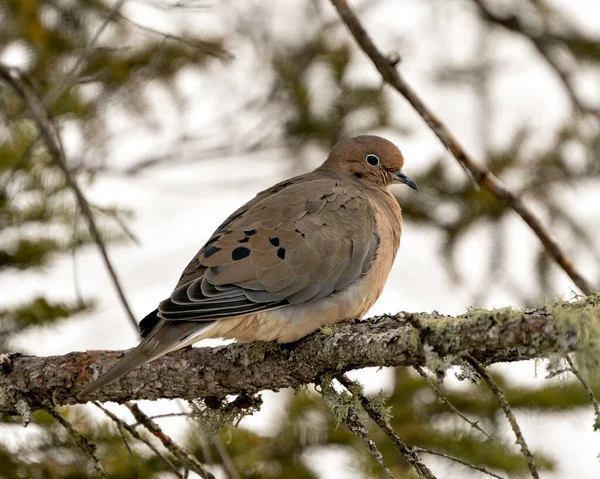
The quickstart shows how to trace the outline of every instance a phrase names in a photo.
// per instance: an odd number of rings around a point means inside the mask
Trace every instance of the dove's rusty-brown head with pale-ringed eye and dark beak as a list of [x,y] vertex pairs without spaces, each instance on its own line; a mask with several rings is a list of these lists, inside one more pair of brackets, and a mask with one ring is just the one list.
[[335,145],[322,168],[340,171],[380,187],[404,183],[418,190],[417,184],[402,173],[403,166],[404,157],[391,141],[362,135]]

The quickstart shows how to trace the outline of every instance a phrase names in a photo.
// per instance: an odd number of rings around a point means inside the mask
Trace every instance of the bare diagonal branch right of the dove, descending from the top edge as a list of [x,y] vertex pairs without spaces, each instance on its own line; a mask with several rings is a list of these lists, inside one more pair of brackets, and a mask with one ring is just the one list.
[[540,219],[523,203],[521,198],[506,188],[485,166],[475,161],[460,145],[450,130],[442,123],[433,112],[421,101],[419,96],[404,81],[396,70],[396,62],[386,58],[375,46],[346,0],[331,0],[338,11],[340,18],[359,44],[360,48],[371,59],[382,79],[395,88],[412,105],[423,118],[427,126],[438,137],[441,143],[452,153],[454,158],[471,173],[474,180],[492,193],[507,207],[512,208],[532,231],[537,235],[546,251],[554,258],[558,265],[569,275],[577,287],[585,294],[590,295],[595,288],[577,270],[571,258],[558,244],[554,235],[542,224]]

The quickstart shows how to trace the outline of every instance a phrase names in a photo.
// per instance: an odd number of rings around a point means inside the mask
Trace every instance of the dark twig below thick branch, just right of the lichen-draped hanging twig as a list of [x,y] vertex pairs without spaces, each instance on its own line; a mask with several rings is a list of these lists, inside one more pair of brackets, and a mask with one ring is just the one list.
[[425,479],[436,479],[433,472],[431,472],[431,470],[421,461],[414,446],[409,446],[400,439],[398,434],[396,434],[396,431],[394,431],[394,428],[386,421],[381,411],[379,411],[378,408],[373,405],[372,401],[362,393],[362,386],[349,379],[345,374],[338,376],[337,380],[348,389],[352,395],[355,395],[358,398],[369,417],[379,426],[385,435],[390,438],[404,459],[415,468],[417,474]]

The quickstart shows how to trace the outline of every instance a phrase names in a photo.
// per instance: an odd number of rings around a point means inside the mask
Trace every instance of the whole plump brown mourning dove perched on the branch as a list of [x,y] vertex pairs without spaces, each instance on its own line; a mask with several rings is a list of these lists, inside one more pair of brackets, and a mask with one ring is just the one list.
[[233,212],[183,271],[171,296],[139,324],[141,343],[79,399],[134,368],[206,338],[288,343],[361,318],[400,247],[404,183],[392,142],[337,143],[315,170],[282,181]]

